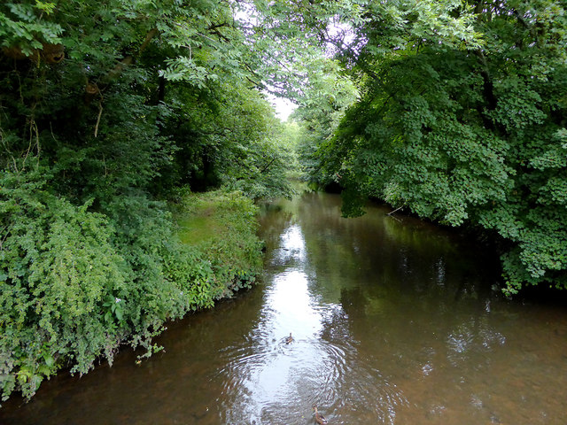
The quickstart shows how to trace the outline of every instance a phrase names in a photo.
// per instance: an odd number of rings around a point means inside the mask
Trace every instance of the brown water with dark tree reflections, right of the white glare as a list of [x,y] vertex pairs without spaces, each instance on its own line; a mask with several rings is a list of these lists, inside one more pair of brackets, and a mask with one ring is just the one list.
[[304,411],[318,398],[336,423],[563,423],[562,307],[502,298],[492,253],[462,237],[380,207],[342,219],[338,204],[311,194],[277,216],[306,242],[316,344],[344,354]]

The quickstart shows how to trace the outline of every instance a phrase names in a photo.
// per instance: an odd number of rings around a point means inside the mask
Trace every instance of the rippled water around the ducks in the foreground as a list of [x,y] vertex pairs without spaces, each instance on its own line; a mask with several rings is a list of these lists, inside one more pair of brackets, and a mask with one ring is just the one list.
[[289,345],[269,337],[255,341],[222,353],[230,360],[215,379],[222,382],[227,422],[305,423],[316,404],[333,423],[360,420],[365,413],[393,423],[396,407],[408,403],[379,370],[358,357],[348,339],[340,344],[318,337]]

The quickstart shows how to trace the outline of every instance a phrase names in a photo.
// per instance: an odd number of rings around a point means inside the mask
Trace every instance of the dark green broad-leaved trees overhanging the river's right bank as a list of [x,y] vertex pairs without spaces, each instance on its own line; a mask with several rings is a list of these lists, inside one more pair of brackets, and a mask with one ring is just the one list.
[[567,286],[565,7],[362,5],[341,53],[361,99],[317,137],[312,178],[345,188],[348,215],[377,197],[484,229],[509,293]]

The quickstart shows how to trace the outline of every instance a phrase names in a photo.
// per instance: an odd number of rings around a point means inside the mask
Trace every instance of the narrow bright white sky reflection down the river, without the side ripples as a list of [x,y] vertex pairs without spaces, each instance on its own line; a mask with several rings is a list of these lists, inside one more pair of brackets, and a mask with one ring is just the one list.
[[[274,274],[268,285],[260,322],[252,330],[252,353],[233,347],[236,358],[229,370],[221,372],[228,375],[227,389],[237,398],[227,406],[227,421],[299,423],[301,416],[310,417],[307,404],[315,400],[309,401],[309,394],[316,393],[318,371],[329,356],[316,342],[322,331],[322,315],[302,271],[305,261],[301,228],[291,225],[273,252],[272,264],[283,270]],[[293,342],[286,344],[290,333]],[[246,353],[238,355],[238,351]],[[242,417],[243,412],[247,418]]]

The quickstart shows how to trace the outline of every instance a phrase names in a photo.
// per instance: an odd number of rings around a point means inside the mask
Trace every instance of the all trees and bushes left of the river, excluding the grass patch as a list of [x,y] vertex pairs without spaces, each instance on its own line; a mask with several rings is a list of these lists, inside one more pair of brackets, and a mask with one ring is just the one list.
[[242,215],[225,235],[242,246],[179,242],[167,206],[182,186],[291,193],[284,129],[234,7],[0,4],[2,398],[112,361],[120,344],[151,353],[164,321],[252,282],[242,195],[215,205]]

